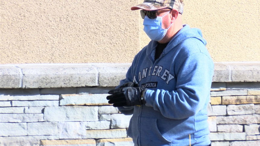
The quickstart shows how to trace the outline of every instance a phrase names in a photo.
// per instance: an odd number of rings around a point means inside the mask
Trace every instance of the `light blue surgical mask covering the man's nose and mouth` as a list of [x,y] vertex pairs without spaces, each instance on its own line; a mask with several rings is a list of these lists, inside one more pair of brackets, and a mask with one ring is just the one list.
[[[170,11],[168,12],[170,13]],[[166,13],[165,15],[167,15]],[[162,18],[165,16],[157,16],[154,19],[148,18],[145,16],[144,18],[144,31],[150,37],[151,40],[160,41],[164,38],[167,30],[171,27],[171,24],[167,29],[162,29]]]

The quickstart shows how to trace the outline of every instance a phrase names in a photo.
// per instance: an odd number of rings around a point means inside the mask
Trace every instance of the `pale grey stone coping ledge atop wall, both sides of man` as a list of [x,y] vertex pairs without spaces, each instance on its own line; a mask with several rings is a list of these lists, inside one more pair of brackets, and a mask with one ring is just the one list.
[[[0,65],[0,88],[113,87],[131,63]],[[260,62],[214,63],[213,82],[259,82]]]

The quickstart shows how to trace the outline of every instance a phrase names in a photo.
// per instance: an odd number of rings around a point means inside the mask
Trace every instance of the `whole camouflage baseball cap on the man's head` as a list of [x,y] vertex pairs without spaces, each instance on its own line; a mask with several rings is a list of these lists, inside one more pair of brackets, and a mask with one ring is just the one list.
[[146,11],[160,10],[164,8],[176,9],[183,13],[183,0],[145,0],[143,3],[131,7],[131,10],[143,9]]

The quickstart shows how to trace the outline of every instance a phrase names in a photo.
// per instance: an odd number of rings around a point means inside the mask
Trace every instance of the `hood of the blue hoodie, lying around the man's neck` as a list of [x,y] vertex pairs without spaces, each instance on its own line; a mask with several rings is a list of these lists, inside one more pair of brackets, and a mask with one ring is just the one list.
[[[166,46],[162,54],[167,54],[169,51],[174,49],[175,46],[182,43],[184,40],[188,38],[196,38],[200,40],[205,46],[207,44],[206,40],[203,39],[201,30],[198,28],[190,28],[189,25],[183,25],[183,28],[173,37],[173,39],[169,42],[169,44]],[[154,56],[155,48],[157,46],[158,42],[151,40],[149,45],[152,47],[149,47],[146,50],[147,56]]]

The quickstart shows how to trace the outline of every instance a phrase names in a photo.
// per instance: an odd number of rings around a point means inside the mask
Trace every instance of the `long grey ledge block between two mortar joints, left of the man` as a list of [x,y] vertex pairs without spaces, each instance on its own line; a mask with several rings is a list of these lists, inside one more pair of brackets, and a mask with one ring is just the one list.
[[17,65],[22,88],[97,86],[96,68],[89,64]]

